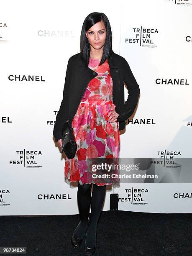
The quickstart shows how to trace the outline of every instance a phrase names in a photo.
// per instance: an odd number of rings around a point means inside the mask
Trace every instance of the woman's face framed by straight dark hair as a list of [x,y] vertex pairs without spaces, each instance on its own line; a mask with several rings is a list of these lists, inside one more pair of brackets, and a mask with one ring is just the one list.
[[101,49],[104,46],[106,38],[106,29],[105,24],[102,20],[93,25],[85,33],[90,45],[94,49]]

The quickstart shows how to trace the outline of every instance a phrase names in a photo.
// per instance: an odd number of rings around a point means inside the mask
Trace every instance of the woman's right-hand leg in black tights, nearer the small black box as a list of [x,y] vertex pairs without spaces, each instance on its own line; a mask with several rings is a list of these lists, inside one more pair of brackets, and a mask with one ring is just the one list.
[[106,186],[98,186],[93,184],[92,197],[91,197],[91,218],[89,227],[87,230],[86,244],[85,246],[92,248],[96,243],[96,230],[97,221],[100,217],[102,204],[105,198]]

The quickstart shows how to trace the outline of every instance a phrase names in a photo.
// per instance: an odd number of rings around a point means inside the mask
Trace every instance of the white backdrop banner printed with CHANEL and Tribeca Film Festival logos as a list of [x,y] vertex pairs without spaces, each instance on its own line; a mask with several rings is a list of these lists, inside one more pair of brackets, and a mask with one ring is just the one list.
[[116,200],[118,210],[192,212],[192,0],[84,6],[1,4],[0,215],[79,213],[78,183],[64,177],[65,155],[52,133],[68,59],[80,51],[83,21],[95,11],[108,16],[113,51],[128,61],[141,90],[120,132],[126,168],[107,186],[103,210]]

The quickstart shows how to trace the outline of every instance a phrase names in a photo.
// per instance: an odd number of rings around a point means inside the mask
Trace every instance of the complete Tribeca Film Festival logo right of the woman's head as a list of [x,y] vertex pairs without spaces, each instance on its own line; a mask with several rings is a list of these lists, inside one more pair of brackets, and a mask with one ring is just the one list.
[[158,30],[156,28],[133,28],[133,33],[135,35],[134,38],[125,38],[125,43],[136,43],[139,46],[143,47],[157,47],[154,44],[155,34],[158,34]]

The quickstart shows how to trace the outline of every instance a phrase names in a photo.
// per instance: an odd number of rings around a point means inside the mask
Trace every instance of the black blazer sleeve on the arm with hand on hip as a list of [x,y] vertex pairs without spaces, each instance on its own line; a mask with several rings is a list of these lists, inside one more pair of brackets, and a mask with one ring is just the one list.
[[140,94],[139,85],[133,76],[128,62],[125,60],[125,58],[123,58],[122,62],[123,81],[127,85],[128,98],[125,101],[124,106],[120,108],[120,115],[117,118],[118,121],[125,121],[133,114],[134,110],[136,109],[138,97]]

